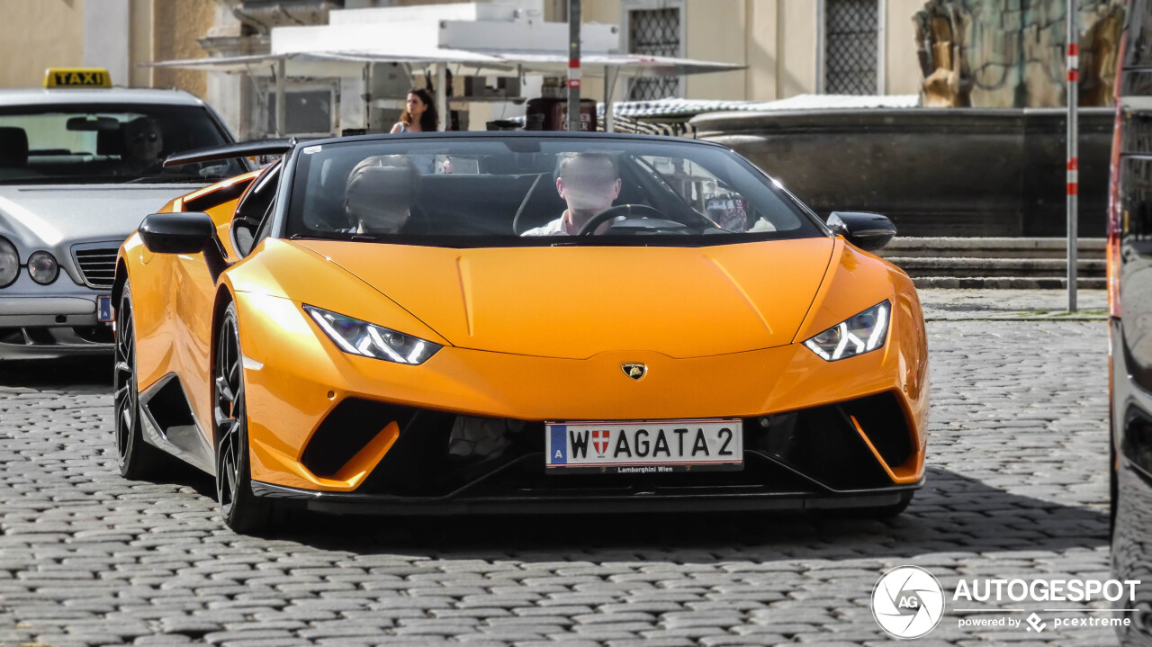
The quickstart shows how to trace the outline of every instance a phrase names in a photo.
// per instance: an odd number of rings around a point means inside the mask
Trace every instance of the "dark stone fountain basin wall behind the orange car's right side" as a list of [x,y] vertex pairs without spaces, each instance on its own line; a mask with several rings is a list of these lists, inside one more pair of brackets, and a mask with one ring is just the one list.
[[[692,120],[823,218],[889,216],[904,236],[1063,236],[1061,108],[713,113]],[[1083,108],[1079,234],[1105,235],[1113,111]]]

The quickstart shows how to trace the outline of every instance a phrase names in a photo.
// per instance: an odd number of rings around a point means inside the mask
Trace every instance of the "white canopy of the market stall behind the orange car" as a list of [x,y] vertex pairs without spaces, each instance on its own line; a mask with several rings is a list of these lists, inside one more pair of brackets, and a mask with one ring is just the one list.
[[[539,20],[543,14],[540,0],[333,10],[328,24],[273,28],[268,54],[184,59],[151,66],[274,76],[280,134],[285,122],[285,77],[355,77],[370,63],[433,68],[435,102],[445,123],[448,109],[445,76],[449,64],[460,66],[472,76],[567,74],[568,25],[544,22]],[[516,48],[508,48],[509,44]],[[605,77],[605,100],[609,104],[612,87],[621,75],[680,76],[744,67],[621,53],[620,28],[612,24],[582,24],[581,50],[582,75]],[[611,112],[606,125],[612,128]]]

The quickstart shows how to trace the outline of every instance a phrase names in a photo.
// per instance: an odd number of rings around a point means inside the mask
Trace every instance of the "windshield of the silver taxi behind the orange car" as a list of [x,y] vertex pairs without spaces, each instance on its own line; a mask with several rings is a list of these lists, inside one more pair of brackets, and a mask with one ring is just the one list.
[[199,106],[5,106],[0,184],[204,184],[247,169],[237,160],[164,168],[164,159],[226,143],[223,131]]

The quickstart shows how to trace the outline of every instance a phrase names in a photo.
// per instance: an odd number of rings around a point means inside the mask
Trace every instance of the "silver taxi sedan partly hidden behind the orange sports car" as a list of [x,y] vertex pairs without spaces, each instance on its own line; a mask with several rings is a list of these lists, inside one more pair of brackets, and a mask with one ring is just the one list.
[[247,170],[164,159],[230,142],[182,91],[0,91],[0,359],[111,352],[120,244],[172,198]]

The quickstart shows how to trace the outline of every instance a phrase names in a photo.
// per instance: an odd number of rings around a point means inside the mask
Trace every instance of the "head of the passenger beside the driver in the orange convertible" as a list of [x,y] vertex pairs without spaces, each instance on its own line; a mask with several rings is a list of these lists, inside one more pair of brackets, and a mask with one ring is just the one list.
[[346,234],[399,234],[412,212],[418,175],[404,155],[376,155],[356,165],[344,183]]

